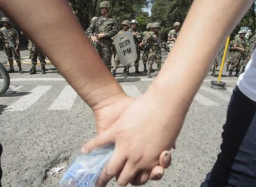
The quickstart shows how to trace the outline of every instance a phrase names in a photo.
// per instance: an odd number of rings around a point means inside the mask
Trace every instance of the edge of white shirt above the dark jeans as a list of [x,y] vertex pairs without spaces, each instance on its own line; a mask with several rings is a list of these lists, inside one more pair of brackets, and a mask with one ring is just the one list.
[[244,95],[256,102],[256,50],[252,53],[245,72],[239,76],[237,86]]

